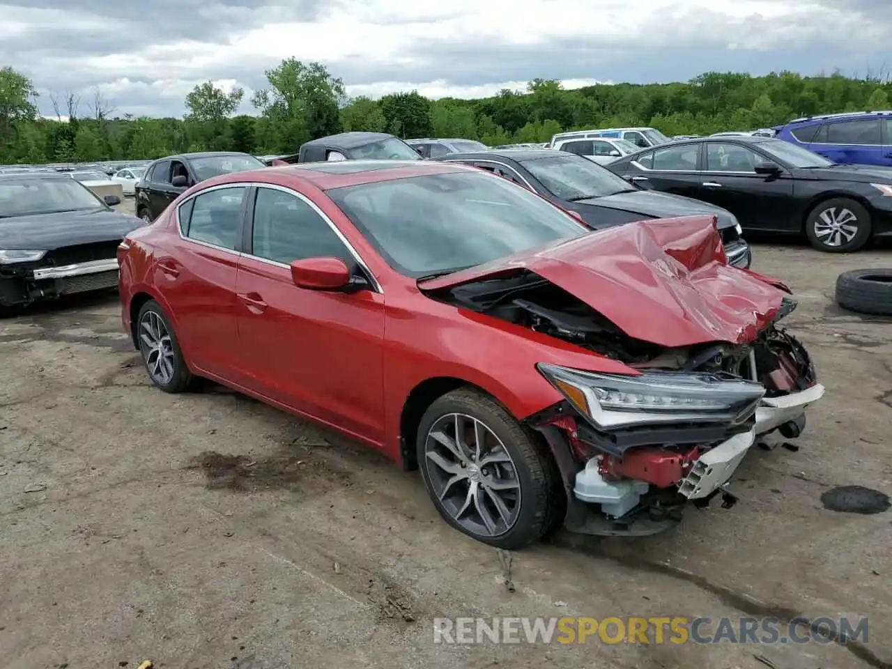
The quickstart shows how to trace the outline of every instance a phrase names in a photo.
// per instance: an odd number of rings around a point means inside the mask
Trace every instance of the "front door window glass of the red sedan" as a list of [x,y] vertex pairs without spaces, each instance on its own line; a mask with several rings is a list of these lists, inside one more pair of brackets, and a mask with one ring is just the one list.
[[259,188],[254,202],[252,255],[290,265],[307,258],[355,260],[340,237],[301,198],[273,188]]

